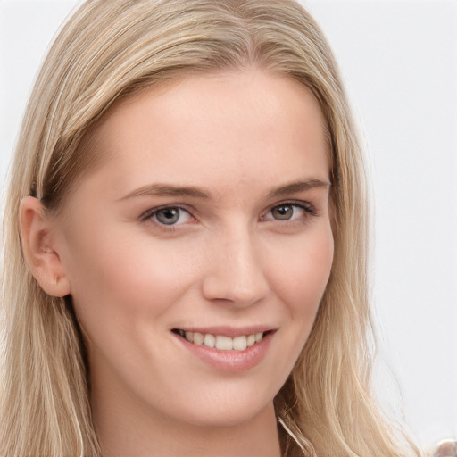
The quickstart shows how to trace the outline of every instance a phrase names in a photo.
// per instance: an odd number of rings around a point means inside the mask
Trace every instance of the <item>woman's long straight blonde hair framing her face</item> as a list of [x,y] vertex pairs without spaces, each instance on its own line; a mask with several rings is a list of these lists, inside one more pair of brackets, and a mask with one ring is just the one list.
[[37,285],[21,252],[26,195],[58,209],[94,157],[81,139],[124,97],[189,72],[258,67],[312,90],[332,154],[335,259],[311,337],[275,398],[287,457],[399,456],[370,392],[366,179],[328,44],[292,0],[88,0],[37,78],[12,164],[4,215],[0,455],[100,455],[87,361],[71,298]]

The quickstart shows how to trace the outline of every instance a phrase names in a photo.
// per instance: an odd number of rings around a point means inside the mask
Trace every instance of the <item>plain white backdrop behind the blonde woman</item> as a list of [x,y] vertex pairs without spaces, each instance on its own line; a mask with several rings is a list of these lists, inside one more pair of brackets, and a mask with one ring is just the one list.
[[[0,0],[0,182],[73,0]],[[457,436],[457,2],[309,0],[372,169],[377,384],[420,444]],[[403,411],[403,412],[402,412]]]

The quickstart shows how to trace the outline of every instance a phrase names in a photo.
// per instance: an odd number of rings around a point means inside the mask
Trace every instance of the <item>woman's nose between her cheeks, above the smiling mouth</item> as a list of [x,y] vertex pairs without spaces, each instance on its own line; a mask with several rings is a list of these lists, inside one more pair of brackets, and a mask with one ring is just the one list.
[[270,291],[262,265],[262,249],[248,230],[216,237],[208,245],[203,279],[204,298],[244,308]]

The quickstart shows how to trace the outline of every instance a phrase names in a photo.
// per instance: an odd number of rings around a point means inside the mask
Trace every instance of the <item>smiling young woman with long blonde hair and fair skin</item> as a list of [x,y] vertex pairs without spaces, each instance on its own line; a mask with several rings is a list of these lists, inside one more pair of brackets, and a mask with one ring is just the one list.
[[9,188],[1,455],[408,453],[370,393],[361,151],[299,4],[82,4]]

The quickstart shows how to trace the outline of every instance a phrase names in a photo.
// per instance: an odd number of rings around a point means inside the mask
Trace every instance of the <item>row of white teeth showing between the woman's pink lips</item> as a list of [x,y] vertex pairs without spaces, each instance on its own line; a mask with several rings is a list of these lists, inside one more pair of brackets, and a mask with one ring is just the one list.
[[173,333],[186,339],[189,343],[194,345],[204,345],[216,349],[218,351],[245,351],[245,349],[260,343],[263,337],[270,333],[259,332],[250,335],[241,335],[239,337],[226,337],[224,335],[212,335],[211,333],[199,333],[181,330],[175,328],[172,330]]

